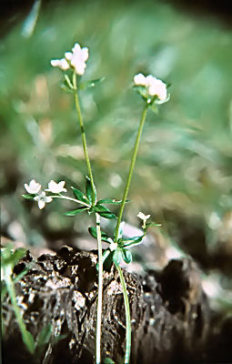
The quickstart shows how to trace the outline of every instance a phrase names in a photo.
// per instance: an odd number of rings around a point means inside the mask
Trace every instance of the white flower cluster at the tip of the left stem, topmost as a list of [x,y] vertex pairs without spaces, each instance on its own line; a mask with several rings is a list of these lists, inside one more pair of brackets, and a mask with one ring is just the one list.
[[78,43],[72,48],[72,52],[66,52],[65,58],[52,59],[51,65],[59,67],[66,71],[70,67],[75,69],[77,75],[83,75],[86,69],[86,60],[88,59],[88,48],[81,48]]

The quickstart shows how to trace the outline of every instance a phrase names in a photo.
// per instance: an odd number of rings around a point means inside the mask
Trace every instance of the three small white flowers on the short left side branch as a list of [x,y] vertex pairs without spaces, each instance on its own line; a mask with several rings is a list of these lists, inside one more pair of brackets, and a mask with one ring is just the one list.
[[[45,191],[52,192],[53,194],[66,192],[65,184],[65,181],[60,181],[59,183],[56,183],[55,181],[51,180],[48,183],[48,188],[45,189]],[[45,204],[48,204],[53,200],[51,196],[46,196],[45,191],[42,189],[41,185],[35,181],[35,179],[32,179],[29,185],[25,183],[25,190],[30,195],[35,195],[32,198],[35,199],[35,201],[38,203],[39,209],[44,208]]]

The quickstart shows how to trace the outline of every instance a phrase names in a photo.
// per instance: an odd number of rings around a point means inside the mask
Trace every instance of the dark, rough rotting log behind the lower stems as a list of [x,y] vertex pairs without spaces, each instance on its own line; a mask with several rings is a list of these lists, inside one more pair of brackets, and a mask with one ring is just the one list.
[[[26,328],[38,338],[47,325],[52,335],[44,348],[30,356],[22,342],[15,314],[6,296],[4,363],[94,363],[97,252],[63,247],[56,255],[26,257],[15,266],[18,305]],[[124,270],[132,319],[131,363],[165,364],[202,360],[208,333],[209,308],[196,264],[190,258],[172,260],[146,277]],[[115,268],[104,273],[102,357],[123,362],[125,310]],[[197,362],[197,361],[196,361]]]

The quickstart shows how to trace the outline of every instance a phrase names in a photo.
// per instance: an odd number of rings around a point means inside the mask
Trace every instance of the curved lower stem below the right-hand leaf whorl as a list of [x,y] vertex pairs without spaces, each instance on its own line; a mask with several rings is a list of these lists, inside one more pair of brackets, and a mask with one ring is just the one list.
[[131,321],[130,321],[130,306],[129,299],[126,292],[126,281],[123,275],[122,269],[116,264],[116,269],[118,271],[120,282],[123,288],[123,298],[126,313],[126,351],[125,351],[125,364],[129,363],[130,360],[130,350],[131,350]]

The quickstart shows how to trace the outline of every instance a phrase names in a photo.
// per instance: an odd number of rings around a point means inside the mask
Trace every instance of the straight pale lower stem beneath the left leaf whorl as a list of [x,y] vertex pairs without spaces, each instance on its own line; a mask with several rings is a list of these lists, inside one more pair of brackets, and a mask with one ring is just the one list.
[[98,292],[96,308],[96,364],[101,362],[101,320],[103,300],[103,259],[102,259],[102,238],[100,227],[100,216],[96,214],[96,237],[98,248]]

